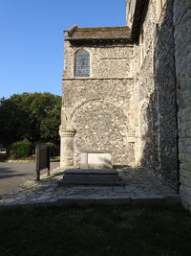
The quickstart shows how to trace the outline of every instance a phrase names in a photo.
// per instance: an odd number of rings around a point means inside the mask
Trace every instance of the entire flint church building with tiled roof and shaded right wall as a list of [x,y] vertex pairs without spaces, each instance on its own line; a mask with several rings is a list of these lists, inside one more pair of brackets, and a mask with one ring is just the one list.
[[126,15],[65,31],[61,167],[141,165],[191,209],[191,0],[127,0]]

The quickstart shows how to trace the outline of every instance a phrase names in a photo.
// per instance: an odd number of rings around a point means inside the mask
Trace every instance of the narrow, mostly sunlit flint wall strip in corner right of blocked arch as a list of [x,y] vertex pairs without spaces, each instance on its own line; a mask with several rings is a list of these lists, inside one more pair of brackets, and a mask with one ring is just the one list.
[[[154,39],[156,35],[156,2],[150,1],[145,20],[142,24],[144,31],[143,62],[138,68],[138,104],[139,104],[139,140],[140,163],[149,168],[154,175],[159,175],[158,132],[154,130],[157,119],[155,107],[154,81]],[[140,53],[139,53],[140,54]]]

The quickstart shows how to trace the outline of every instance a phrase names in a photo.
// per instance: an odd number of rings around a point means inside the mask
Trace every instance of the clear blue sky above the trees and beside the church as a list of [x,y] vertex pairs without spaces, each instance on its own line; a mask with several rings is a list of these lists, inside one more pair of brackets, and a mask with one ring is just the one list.
[[125,25],[125,0],[0,0],[0,98],[61,95],[63,31]]

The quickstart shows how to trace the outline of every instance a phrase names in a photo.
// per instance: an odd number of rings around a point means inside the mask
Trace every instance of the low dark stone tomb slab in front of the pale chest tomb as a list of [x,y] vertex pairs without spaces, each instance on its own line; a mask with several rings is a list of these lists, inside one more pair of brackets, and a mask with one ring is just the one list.
[[70,169],[59,182],[63,185],[125,185],[124,180],[112,169]]

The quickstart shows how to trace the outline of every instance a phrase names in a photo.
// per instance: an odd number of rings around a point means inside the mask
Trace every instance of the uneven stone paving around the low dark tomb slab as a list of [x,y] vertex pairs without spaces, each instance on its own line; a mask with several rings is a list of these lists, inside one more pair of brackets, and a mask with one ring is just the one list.
[[55,170],[40,182],[30,180],[0,199],[1,206],[14,205],[90,205],[90,204],[175,204],[176,191],[144,169],[118,170],[123,186],[65,186],[59,183],[64,170]]

